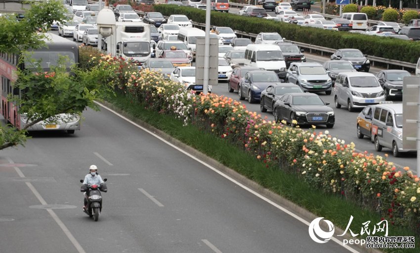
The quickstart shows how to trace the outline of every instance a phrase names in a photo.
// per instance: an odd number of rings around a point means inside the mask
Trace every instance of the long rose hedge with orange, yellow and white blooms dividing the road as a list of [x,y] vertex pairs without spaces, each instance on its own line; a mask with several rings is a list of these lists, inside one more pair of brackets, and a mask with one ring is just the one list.
[[408,167],[397,171],[386,157],[355,152],[353,143],[346,144],[328,131],[305,131],[263,119],[231,98],[197,96],[160,72],[138,71],[122,58],[101,55],[90,64],[110,71],[107,82],[132,101],[243,148],[267,169],[298,173],[311,187],[370,207],[392,224],[420,226],[419,177]]

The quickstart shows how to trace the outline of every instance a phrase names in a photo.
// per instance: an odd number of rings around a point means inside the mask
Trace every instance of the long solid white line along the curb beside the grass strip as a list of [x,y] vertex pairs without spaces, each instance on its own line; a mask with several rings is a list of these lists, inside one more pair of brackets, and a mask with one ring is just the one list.
[[[148,133],[148,134],[150,134],[150,135],[152,135],[152,136],[156,137],[157,139],[161,140],[162,142],[164,142],[164,143],[165,143],[165,144],[167,144],[168,146],[170,146],[170,147],[172,147],[172,148],[176,149],[177,151],[184,153],[185,155],[189,156],[190,158],[192,158],[192,159],[194,159],[194,160],[198,161],[199,163],[201,163],[201,164],[203,164],[204,166],[206,166],[206,167],[210,168],[212,171],[216,172],[217,174],[221,175],[222,177],[226,178],[227,180],[229,180],[229,181],[233,182],[234,184],[236,184],[236,185],[238,185],[238,186],[242,187],[243,189],[245,189],[245,190],[247,190],[248,192],[252,193],[253,195],[257,196],[258,198],[260,198],[260,199],[264,200],[265,202],[268,202],[269,204],[271,204],[271,205],[273,205],[273,206],[277,207],[278,209],[280,209],[280,210],[282,210],[283,212],[285,212],[285,213],[289,214],[290,216],[294,217],[296,220],[298,220],[298,221],[302,222],[303,224],[305,224],[305,225],[307,225],[307,226],[309,227],[309,224],[310,224],[309,222],[307,222],[307,221],[306,221],[306,220],[304,220],[303,218],[299,217],[298,215],[294,214],[293,212],[289,211],[289,210],[288,210],[288,209],[286,209],[285,207],[283,207],[283,206],[281,206],[281,205],[279,205],[279,204],[277,204],[277,203],[275,203],[275,202],[273,202],[273,201],[271,201],[271,200],[267,199],[266,197],[262,196],[261,194],[259,194],[259,193],[255,192],[254,190],[252,190],[252,189],[248,188],[247,186],[243,185],[242,183],[240,183],[240,182],[236,181],[235,179],[233,179],[233,178],[229,177],[228,175],[226,175],[226,174],[222,173],[221,171],[217,170],[216,168],[214,168],[214,167],[213,167],[213,166],[211,166],[210,164],[208,164],[208,163],[206,163],[206,162],[204,162],[204,161],[200,160],[199,158],[197,158],[197,157],[193,156],[192,154],[190,154],[190,153],[188,153],[188,152],[186,152],[186,151],[184,151],[184,150],[182,150],[182,149],[180,149],[180,148],[176,147],[175,145],[171,144],[171,143],[170,143],[170,142],[168,142],[167,140],[163,139],[162,137],[158,136],[158,135],[157,135],[157,134],[155,134],[155,133],[150,132],[150,131],[149,131],[149,130],[147,130],[146,128],[144,128],[144,127],[142,127],[142,126],[138,125],[137,123],[133,122],[132,120],[130,120],[130,119],[128,119],[128,118],[126,118],[125,116],[123,116],[123,115],[121,115],[120,113],[118,113],[118,112],[114,111],[113,109],[108,108],[107,106],[105,106],[105,105],[103,105],[103,104],[101,104],[101,103],[99,103],[99,102],[97,102],[97,101],[95,101],[95,103],[97,103],[99,106],[101,106],[101,107],[103,107],[103,108],[105,108],[105,109],[109,110],[110,112],[114,113],[115,115],[119,116],[120,118],[122,118],[122,119],[126,120],[127,122],[129,122],[129,123],[133,124],[134,126],[136,126],[136,127],[140,128],[141,130],[145,131],[146,133]],[[308,237],[309,237],[309,235],[308,235]],[[331,239],[332,239],[334,242],[336,242],[338,245],[340,245],[341,247],[345,248],[346,250],[348,250],[348,251],[350,251],[350,252],[352,252],[352,253],[359,253],[358,251],[356,251],[356,250],[352,249],[351,247],[349,247],[349,246],[347,246],[347,245],[343,245],[343,244],[342,244],[342,241],[339,241],[339,240],[338,240],[338,239],[336,239],[335,237],[332,237]]]

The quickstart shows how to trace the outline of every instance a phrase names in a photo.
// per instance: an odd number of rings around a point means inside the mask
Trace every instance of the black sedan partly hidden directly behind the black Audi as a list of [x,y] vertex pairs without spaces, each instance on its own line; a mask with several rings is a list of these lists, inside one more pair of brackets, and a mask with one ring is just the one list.
[[261,92],[259,100],[261,112],[273,111],[274,103],[286,93],[304,93],[299,86],[292,83],[270,85]]

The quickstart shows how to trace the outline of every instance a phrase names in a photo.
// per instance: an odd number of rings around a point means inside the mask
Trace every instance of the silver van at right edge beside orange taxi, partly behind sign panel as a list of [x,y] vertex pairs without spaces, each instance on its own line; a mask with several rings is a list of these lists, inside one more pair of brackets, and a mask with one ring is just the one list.
[[391,149],[395,157],[401,152],[416,152],[403,149],[403,104],[378,104],[373,109],[371,140],[375,150]]

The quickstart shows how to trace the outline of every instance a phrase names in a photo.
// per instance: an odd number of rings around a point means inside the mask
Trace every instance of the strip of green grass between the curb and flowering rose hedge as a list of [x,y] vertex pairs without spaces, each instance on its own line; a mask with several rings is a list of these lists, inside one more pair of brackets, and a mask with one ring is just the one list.
[[[266,168],[264,163],[253,158],[250,153],[233,146],[215,135],[200,130],[197,126],[183,126],[180,120],[147,110],[143,105],[132,103],[123,96],[109,98],[108,101],[131,116],[143,120],[194,149],[205,153],[259,185],[270,189],[320,217],[326,217],[341,229],[346,228],[350,215],[354,217],[350,227],[354,233],[360,233],[363,226],[362,223],[366,221],[371,221],[369,226],[371,231],[374,228],[374,224],[380,221],[381,217],[378,213],[362,209],[357,204],[346,201],[339,195],[326,194],[320,190],[314,190],[294,173],[287,173],[278,169],[278,167]],[[381,236],[383,233],[377,233],[376,235]],[[388,235],[415,236],[415,232],[408,228],[389,224]],[[416,242],[417,249],[400,251],[387,249],[385,252],[418,253],[420,247],[419,235],[416,235]]]

